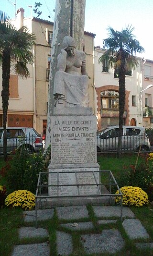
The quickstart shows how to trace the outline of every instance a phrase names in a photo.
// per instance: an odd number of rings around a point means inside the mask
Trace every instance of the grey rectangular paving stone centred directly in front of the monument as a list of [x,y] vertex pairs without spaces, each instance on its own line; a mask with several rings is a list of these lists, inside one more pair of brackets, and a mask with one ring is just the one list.
[[56,210],[59,219],[81,219],[88,217],[86,206],[56,207]]

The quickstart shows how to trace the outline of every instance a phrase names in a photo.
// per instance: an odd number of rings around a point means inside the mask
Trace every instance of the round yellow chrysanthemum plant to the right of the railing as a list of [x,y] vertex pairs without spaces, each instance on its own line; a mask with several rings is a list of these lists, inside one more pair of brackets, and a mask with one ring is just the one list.
[[[144,206],[148,204],[148,195],[140,187],[124,186],[120,188],[123,195],[123,206]],[[119,194],[117,190],[116,194]],[[115,198],[116,203],[120,203],[120,196]]]

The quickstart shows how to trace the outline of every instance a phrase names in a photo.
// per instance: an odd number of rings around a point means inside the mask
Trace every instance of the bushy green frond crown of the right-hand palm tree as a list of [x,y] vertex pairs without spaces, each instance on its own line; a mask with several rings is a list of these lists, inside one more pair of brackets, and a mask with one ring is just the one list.
[[120,31],[115,31],[112,27],[108,27],[109,37],[103,40],[103,48],[106,52],[99,58],[101,63],[108,57],[109,66],[115,68],[121,67],[124,72],[131,67],[134,69],[138,65],[138,61],[132,56],[133,53],[142,53],[143,47],[132,34],[134,27],[128,24]]

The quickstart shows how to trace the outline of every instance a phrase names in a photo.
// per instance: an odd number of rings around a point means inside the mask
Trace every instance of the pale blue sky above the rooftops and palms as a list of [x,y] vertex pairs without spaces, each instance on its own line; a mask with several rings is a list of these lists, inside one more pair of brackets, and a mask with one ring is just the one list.
[[[15,10],[22,7],[25,17],[36,17],[35,2],[43,4],[40,18],[54,22],[55,0],[0,0],[0,10],[15,18]],[[145,49],[136,55],[153,60],[153,0],[86,0],[85,31],[96,34],[95,46],[102,48],[108,26],[121,31],[128,24],[134,27],[132,33]]]

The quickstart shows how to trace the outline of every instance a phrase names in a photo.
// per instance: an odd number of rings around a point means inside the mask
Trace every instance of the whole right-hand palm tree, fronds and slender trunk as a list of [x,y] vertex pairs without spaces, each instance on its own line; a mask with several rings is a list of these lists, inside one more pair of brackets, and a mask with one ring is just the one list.
[[118,157],[120,157],[121,135],[123,126],[123,113],[125,106],[125,75],[126,72],[138,66],[138,61],[133,53],[142,53],[143,47],[132,34],[134,27],[127,26],[116,31],[108,27],[109,37],[103,40],[105,53],[99,58],[99,63],[104,60],[108,61],[111,68],[117,69],[119,77],[119,143]]

